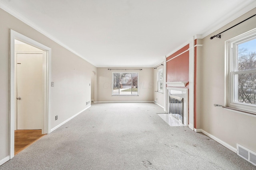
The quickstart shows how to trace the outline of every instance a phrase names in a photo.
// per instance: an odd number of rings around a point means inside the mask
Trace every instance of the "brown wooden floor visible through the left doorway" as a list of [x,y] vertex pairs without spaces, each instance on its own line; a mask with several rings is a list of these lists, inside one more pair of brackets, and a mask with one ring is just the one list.
[[14,131],[14,155],[25,149],[45,134],[42,130],[17,130]]

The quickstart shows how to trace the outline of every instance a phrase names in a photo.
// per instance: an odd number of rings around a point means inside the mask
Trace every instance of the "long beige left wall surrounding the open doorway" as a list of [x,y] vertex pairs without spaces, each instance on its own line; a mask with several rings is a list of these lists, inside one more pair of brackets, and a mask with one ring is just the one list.
[[[92,64],[55,43],[45,35],[0,9],[0,163],[10,156],[9,124],[9,59],[10,29],[17,31],[52,49],[52,82],[50,129],[86,109],[91,98]],[[55,115],[58,120],[55,121]]]

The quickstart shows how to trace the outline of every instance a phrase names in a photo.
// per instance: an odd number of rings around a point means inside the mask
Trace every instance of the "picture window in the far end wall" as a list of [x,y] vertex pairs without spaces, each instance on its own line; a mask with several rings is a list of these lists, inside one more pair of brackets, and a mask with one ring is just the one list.
[[138,96],[138,72],[113,72],[112,96]]

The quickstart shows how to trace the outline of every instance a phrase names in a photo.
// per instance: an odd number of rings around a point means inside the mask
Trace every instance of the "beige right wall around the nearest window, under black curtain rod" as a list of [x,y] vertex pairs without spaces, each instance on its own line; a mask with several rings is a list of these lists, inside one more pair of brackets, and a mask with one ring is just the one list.
[[256,9],[246,13],[203,39],[202,47],[202,129],[236,148],[236,143],[256,152],[256,117],[214,107],[225,100],[225,46],[224,41],[256,27],[256,17],[237,25],[210,40],[225,29],[256,14]]

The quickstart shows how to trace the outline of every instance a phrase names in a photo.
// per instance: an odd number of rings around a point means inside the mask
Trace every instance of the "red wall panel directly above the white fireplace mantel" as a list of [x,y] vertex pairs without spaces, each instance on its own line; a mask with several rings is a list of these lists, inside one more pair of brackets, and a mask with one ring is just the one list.
[[166,73],[167,82],[188,82],[189,51],[168,61],[166,63]]

